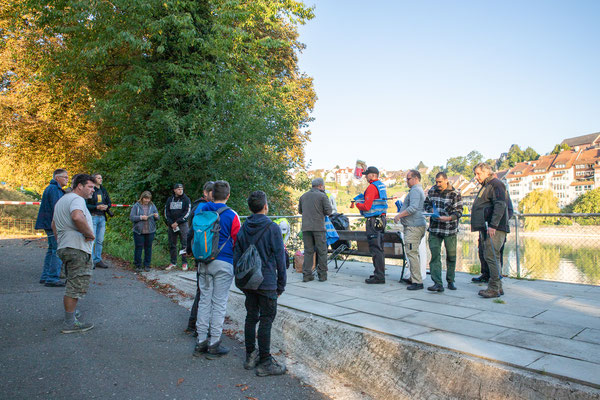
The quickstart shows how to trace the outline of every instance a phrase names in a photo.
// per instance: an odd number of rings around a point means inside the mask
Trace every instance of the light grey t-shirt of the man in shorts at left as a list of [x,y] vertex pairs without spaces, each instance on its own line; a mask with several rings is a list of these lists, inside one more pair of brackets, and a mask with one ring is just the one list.
[[76,193],[65,194],[54,206],[54,225],[56,225],[58,249],[69,247],[92,254],[94,242],[85,241],[85,237],[77,230],[71,218],[71,213],[75,210],[83,212],[90,230],[93,229],[92,215],[85,205],[84,198]]

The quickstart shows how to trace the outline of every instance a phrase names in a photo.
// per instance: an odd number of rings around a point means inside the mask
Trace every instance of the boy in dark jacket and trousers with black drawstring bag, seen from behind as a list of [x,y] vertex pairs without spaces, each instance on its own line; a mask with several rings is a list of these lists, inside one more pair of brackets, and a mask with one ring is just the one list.
[[[281,375],[286,368],[271,356],[271,326],[277,313],[277,297],[285,290],[286,265],[281,229],[268,217],[267,195],[252,192],[248,197],[252,215],[244,222],[233,252],[236,285],[246,295],[245,369],[256,367],[256,375]],[[252,246],[253,245],[253,246]],[[247,252],[258,251],[262,283],[256,289],[245,289],[238,280],[241,264],[248,262]],[[258,275],[261,275],[259,272]],[[258,337],[256,325],[258,324]],[[258,350],[256,340],[258,339]]]

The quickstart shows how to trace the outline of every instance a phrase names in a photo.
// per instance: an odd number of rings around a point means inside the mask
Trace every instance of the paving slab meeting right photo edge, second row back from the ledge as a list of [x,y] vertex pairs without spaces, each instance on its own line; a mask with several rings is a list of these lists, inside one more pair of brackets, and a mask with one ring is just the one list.
[[598,355],[600,354],[600,345],[593,343],[519,331],[516,329],[507,330],[492,338],[492,340],[511,346],[518,346],[594,363],[600,361],[598,358]]

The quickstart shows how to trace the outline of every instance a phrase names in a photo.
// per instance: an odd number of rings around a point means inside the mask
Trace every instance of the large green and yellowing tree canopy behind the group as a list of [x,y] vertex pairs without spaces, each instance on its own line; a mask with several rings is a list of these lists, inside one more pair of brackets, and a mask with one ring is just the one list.
[[[297,25],[311,8],[295,0],[24,0],[16,15],[39,32],[28,45],[41,54],[40,81],[82,107],[72,119],[94,143],[86,164],[117,196],[166,196],[174,182],[195,196],[204,181],[226,179],[234,206],[262,189],[274,211],[289,207],[287,172],[304,163],[316,100],[297,65]],[[61,143],[67,158],[76,147]]]

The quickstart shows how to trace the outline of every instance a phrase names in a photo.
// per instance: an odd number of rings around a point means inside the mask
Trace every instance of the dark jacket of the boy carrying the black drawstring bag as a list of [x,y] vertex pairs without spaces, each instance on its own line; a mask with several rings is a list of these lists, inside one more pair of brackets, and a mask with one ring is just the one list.
[[[267,225],[269,225],[268,228]],[[250,243],[256,240],[255,235],[260,235],[263,229],[266,229],[266,231],[262,234],[260,240],[255,243],[263,262],[264,280],[258,290],[276,290],[277,294],[281,294],[285,290],[287,281],[283,236],[279,226],[266,215],[252,214],[242,225],[233,248],[233,265],[237,264]]]

